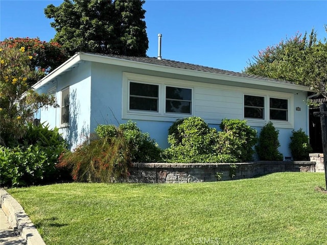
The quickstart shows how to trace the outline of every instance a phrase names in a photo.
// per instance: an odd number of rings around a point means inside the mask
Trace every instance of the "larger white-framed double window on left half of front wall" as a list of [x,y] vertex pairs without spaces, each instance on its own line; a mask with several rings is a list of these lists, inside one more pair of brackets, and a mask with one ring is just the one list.
[[192,115],[193,88],[182,80],[125,72],[122,104],[124,118],[174,121]]

